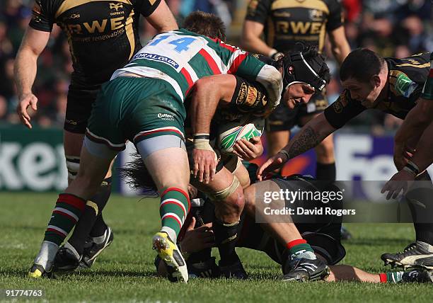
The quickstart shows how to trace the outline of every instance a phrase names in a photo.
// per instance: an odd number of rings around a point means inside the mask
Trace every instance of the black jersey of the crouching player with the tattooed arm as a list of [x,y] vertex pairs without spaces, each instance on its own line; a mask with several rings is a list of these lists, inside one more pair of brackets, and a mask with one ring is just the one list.
[[[388,92],[384,98],[377,101],[374,109],[404,119],[421,96],[422,86],[429,75],[429,57],[430,53],[425,52],[403,59],[385,58],[388,64],[388,81],[385,88]],[[345,90],[337,101],[325,109],[324,114],[330,125],[340,128],[366,109],[368,108],[359,101],[352,100],[350,92]]]

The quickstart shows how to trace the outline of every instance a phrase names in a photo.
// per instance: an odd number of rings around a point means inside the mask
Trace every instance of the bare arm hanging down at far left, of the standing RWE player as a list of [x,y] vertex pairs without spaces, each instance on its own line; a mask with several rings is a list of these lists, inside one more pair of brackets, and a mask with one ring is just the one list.
[[37,70],[37,57],[44,50],[49,38],[50,32],[27,28],[16,55],[14,74],[19,101],[16,111],[21,122],[28,128],[32,128],[32,125],[27,108],[31,106],[33,110],[37,110],[37,98],[32,93]]

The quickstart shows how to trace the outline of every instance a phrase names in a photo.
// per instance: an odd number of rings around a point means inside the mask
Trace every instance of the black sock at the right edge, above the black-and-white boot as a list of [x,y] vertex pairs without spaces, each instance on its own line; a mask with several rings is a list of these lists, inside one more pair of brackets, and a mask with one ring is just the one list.
[[[417,241],[433,245],[433,186],[427,171],[417,176],[406,198],[412,213]],[[413,201],[413,202],[410,202]]]

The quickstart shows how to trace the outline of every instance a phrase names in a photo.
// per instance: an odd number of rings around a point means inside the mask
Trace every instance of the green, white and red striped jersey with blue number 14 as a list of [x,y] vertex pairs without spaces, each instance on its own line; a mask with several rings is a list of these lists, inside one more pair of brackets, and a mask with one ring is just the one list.
[[282,76],[247,52],[185,29],[156,35],[111,79],[125,73],[168,81],[183,102],[195,81],[214,74],[236,74],[265,86],[272,106],[279,103]]

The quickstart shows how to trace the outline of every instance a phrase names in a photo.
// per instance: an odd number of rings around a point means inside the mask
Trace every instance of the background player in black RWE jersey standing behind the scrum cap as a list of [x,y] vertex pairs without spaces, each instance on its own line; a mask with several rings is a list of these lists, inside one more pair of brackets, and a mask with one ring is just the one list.
[[[337,0],[250,0],[241,44],[250,52],[276,58],[282,52],[296,50],[299,42],[323,52],[328,33],[333,55],[341,64],[350,52],[343,23],[342,6]],[[265,40],[260,38],[263,32]],[[308,103],[301,98],[280,103],[266,120],[269,156],[275,156],[289,142],[295,125],[305,125],[327,105],[325,90],[316,91]],[[325,138],[315,151],[316,177],[335,180],[333,137]]]

